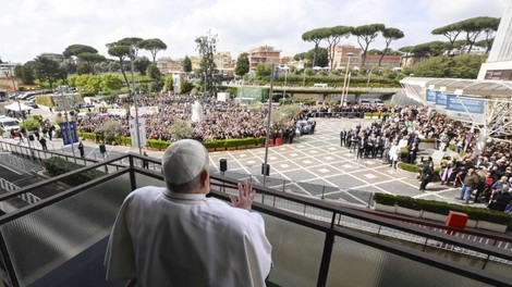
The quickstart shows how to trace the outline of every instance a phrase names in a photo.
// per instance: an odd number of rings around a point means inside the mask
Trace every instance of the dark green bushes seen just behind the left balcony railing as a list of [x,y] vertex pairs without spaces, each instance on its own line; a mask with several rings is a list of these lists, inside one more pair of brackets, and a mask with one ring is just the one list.
[[[84,165],[76,164],[74,162],[69,162],[64,159],[57,157],[42,160],[42,165],[45,165],[45,169],[50,176],[58,176],[84,167]],[[70,186],[77,186],[90,182],[95,178],[101,177],[105,173],[100,171],[92,170],[84,173],[75,174],[73,176],[69,176],[62,179],[62,182]]]

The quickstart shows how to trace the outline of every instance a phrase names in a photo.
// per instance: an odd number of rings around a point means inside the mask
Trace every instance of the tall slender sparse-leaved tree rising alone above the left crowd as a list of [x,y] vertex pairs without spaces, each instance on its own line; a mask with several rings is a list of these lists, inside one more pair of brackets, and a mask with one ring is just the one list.
[[214,88],[214,75],[218,73],[217,66],[214,61],[214,54],[216,53],[217,35],[211,35],[210,32],[206,36],[196,37],[195,42],[196,49],[199,51],[200,64],[199,73],[203,75],[205,80],[204,85],[207,90]]

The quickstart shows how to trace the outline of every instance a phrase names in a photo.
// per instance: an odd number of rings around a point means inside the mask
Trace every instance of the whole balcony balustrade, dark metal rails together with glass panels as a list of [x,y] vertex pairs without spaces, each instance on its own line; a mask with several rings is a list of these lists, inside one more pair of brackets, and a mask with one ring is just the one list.
[[[27,157],[64,157],[54,152]],[[0,196],[0,202],[90,170],[103,176],[0,216],[0,278],[5,286],[120,286],[105,282],[106,239],[133,189],[163,186],[146,157],[84,161],[72,173]],[[150,160],[150,159],[149,159]],[[158,162],[150,160],[150,166]],[[229,201],[236,179],[211,176],[211,196]],[[511,286],[512,239],[258,187],[254,210],[272,245],[269,280],[280,286]],[[483,238],[476,240],[475,238]]]

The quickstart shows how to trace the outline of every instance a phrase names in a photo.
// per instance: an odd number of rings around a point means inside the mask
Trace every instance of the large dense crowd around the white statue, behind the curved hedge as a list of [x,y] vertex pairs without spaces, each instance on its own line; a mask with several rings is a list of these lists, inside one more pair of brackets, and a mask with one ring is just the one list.
[[[243,107],[234,101],[217,101],[215,98],[202,99],[204,105],[204,117],[202,121],[192,122],[192,104],[197,98],[161,95],[150,98],[141,96],[137,99],[139,107],[157,107],[158,112],[146,113],[143,115],[146,122],[146,134],[149,139],[175,140],[171,135],[169,126],[176,120],[190,122],[192,125],[192,138],[199,141],[244,138],[244,137],[264,137],[266,136],[267,109],[255,107]],[[123,108],[130,103],[130,99],[113,98],[106,104],[115,108]],[[106,112],[106,110],[103,111]],[[119,121],[122,123],[122,136],[130,136],[129,120],[133,115],[113,115],[106,113],[87,113],[76,116],[77,128],[86,133],[101,132],[106,120]],[[303,129],[304,124],[298,123],[296,118],[291,118],[280,126],[273,125],[271,134],[275,137],[283,139],[293,139],[297,135],[297,129]],[[307,132],[310,130],[307,129]],[[290,140],[288,140],[290,141]]]

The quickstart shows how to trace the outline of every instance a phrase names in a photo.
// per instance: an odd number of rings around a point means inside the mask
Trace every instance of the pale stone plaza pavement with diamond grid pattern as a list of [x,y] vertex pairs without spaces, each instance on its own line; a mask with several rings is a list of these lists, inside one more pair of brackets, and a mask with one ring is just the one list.
[[[41,114],[44,118],[50,120],[56,116],[46,107],[34,110],[33,114]],[[210,152],[210,170],[220,173],[219,161],[225,159],[228,161],[225,176],[237,179],[251,178],[255,184],[264,185],[265,182],[266,187],[284,192],[355,205],[368,205],[371,192],[458,202],[454,197],[459,196],[459,188],[430,183],[427,191],[420,192],[415,173],[391,169],[380,160],[356,159],[349,149],[340,147],[339,133],[343,128],[353,128],[357,123],[366,127],[375,120],[314,120],[317,122],[315,134],[295,137],[292,145],[269,147],[267,161],[270,165],[269,177],[261,176],[265,148]],[[95,142],[83,144],[86,157],[101,159]],[[34,146],[40,148],[38,142]],[[48,148],[71,153],[70,146],[63,147],[61,138],[48,141]],[[125,152],[138,153],[138,148],[123,146],[108,146],[107,149],[108,158]],[[423,154],[431,153],[431,150],[423,149],[422,145],[419,149]],[[163,152],[147,150],[147,153],[149,157],[161,159]]]

